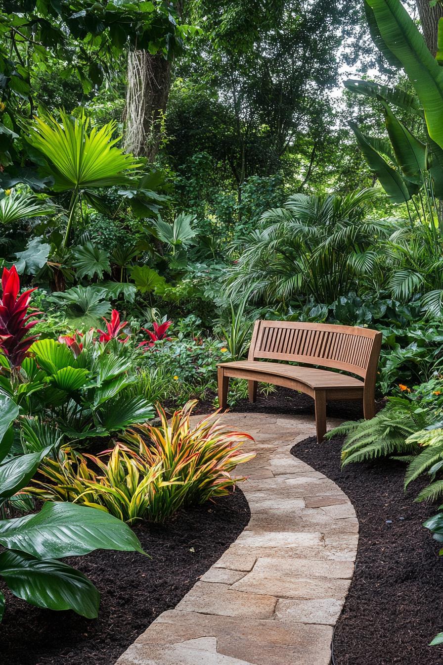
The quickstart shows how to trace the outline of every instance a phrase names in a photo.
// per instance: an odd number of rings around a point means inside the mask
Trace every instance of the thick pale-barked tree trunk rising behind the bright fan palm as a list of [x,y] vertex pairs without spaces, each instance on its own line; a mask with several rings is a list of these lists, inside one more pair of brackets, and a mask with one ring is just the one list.
[[171,61],[147,51],[130,51],[126,88],[125,150],[155,160],[171,87]]

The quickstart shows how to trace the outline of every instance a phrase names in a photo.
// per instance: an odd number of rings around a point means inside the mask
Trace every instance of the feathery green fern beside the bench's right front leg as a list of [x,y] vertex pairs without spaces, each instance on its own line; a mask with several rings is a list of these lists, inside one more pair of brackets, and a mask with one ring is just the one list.
[[430,424],[430,414],[400,397],[389,398],[387,406],[371,420],[345,422],[328,432],[327,438],[346,436],[341,450],[342,466],[382,457],[410,456],[418,444],[409,437]]

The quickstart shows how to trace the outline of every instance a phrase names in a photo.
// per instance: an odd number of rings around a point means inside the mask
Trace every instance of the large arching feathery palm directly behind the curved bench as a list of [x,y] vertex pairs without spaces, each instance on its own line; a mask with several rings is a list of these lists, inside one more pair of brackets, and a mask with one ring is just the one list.
[[258,229],[230,247],[239,256],[228,270],[228,295],[238,301],[246,289],[268,306],[306,297],[328,304],[362,277],[377,279],[380,242],[389,226],[365,217],[375,194],[295,194],[283,207],[263,213]]

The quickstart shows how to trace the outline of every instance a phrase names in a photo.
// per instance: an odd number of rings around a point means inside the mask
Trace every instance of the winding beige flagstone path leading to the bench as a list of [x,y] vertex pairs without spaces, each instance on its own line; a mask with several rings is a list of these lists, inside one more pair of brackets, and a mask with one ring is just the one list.
[[315,436],[313,418],[226,414],[224,422],[255,439],[256,458],[241,466],[250,522],[117,665],[330,662],[357,553],[355,511],[333,481],[290,454]]

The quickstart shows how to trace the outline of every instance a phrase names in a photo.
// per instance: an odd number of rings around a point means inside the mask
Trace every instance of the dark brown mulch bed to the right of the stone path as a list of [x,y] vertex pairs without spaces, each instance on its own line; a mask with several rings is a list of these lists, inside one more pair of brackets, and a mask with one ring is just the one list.
[[335,628],[335,665],[442,665],[427,646],[443,630],[443,559],[423,521],[435,505],[404,496],[404,465],[383,460],[340,468],[342,438],[315,438],[292,453],[343,489],[360,523],[355,574]]

